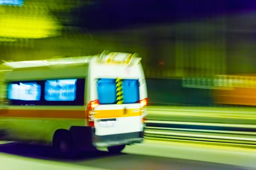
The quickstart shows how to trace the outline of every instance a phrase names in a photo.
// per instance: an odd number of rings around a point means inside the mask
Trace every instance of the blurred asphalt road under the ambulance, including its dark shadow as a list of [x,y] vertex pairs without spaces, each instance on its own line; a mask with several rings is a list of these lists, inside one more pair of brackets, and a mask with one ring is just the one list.
[[[72,160],[58,159],[50,147],[31,144],[1,144],[0,152],[16,155],[15,159],[17,160],[25,157],[26,162],[35,163],[45,160],[44,164],[63,164],[80,167],[83,170],[256,169],[256,150],[254,149],[151,140],[147,140],[143,144],[128,146],[121,154],[111,155],[106,151],[88,151]],[[0,162],[1,159],[4,159],[3,154],[0,154]],[[17,162],[14,162],[16,166]],[[20,165],[20,169],[26,169],[26,167],[23,168]],[[37,168],[34,167],[34,169]],[[61,167],[60,169],[64,170]],[[11,169],[5,168],[5,170]]]

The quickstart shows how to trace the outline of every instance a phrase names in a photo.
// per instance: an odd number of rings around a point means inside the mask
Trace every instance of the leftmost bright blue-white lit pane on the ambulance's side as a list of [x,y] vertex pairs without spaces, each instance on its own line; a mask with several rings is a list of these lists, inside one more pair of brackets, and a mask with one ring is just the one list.
[[12,105],[38,105],[41,99],[41,85],[36,81],[9,83],[8,99]]

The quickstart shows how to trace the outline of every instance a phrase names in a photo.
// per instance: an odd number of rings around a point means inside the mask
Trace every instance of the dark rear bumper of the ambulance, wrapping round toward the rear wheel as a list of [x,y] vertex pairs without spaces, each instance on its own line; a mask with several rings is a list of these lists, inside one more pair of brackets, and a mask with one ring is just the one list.
[[97,136],[94,127],[72,126],[70,132],[79,149],[141,143],[144,139],[144,131]]

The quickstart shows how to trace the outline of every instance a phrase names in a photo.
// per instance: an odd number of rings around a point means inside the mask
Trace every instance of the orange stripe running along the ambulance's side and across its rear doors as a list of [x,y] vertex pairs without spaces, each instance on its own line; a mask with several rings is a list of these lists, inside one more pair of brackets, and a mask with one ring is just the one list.
[[[127,109],[126,112],[124,110],[101,110],[95,115],[96,119],[130,116],[140,116],[139,109]],[[0,109],[0,117],[86,119],[86,111]]]

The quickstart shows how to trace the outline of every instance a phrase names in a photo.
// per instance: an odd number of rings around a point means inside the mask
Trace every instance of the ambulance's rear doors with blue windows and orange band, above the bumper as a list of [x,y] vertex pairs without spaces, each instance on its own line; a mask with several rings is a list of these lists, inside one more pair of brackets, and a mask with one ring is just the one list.
[[96,135],[126,134],[127,138],[135,138],[129,135],[143,131],[139,79],[99,79],[97,93]]

